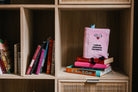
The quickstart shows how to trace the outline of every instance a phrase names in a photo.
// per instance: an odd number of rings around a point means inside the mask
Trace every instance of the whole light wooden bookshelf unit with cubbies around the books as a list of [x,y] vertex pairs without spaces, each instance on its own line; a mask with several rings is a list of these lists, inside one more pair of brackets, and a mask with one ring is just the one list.
[[[121,92],[132,92],[133,7],[133,0],[11,0],[11,4],[0,5],[0,38],[10,42],[11,54],[12,45],[21,44],[21,75],[0,75],[0,91],[8,92],[9,83],[10,92],[66,92],[61,81],[71,85],[77,80],[98,79],[117,82],[113,85],[125,83],[120,85],[125,88]],[[84,27],[91,24],[111,29],[109,53],[115,59],[113,70],[118,70],[102,77],[65,72],[67,65],[82,56]],[[55,75],[26,75],[37,44],[49,36],[55,39]]]

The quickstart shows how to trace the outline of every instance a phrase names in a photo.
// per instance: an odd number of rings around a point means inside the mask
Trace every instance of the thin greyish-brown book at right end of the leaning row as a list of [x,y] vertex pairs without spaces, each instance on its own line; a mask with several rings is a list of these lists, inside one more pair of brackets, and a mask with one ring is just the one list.
[[51,74],[55,74],[55,41],[53,41]]

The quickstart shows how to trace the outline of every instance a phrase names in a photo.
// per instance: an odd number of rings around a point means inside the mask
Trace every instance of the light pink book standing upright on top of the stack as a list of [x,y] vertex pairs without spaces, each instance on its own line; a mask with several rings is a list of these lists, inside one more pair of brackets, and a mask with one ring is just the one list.
[[83,57],[99,58],[104,56],[108,58],[110,29],[85,28]]

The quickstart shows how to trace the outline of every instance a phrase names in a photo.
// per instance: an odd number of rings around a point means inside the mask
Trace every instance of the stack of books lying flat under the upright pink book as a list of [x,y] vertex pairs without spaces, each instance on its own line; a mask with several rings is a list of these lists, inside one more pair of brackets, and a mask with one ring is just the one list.
[[113,57],[105,59],[77,57],[74,65],[66,67],[66,72],[100,77],[112,71]]

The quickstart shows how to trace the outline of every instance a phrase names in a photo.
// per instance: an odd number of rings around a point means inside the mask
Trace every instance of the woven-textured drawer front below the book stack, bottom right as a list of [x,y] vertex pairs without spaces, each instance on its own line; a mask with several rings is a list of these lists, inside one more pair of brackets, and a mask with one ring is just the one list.
[[127,92],[127,86],[125,82],[61,82],[59,92]]

